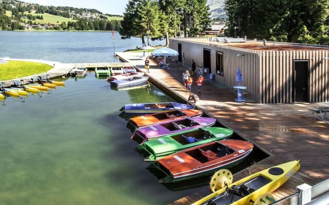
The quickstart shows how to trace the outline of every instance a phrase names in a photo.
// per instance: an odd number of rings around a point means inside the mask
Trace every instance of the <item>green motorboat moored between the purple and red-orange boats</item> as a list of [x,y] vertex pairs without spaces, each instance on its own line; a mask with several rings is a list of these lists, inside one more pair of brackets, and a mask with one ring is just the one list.
[[228,139],[233,131],[226,128],[197,128],[180,134],[166,135],[145,141],[138,149],[150,154],[145,161],[155,161],[167,155],[180,152],[212,141]]

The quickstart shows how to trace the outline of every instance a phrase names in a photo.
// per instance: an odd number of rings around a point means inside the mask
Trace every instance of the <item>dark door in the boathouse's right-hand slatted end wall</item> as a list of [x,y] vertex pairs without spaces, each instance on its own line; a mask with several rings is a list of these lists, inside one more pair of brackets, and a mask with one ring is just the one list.
[[294,76],[295,102],[308,101],[308,61],[294,61]]

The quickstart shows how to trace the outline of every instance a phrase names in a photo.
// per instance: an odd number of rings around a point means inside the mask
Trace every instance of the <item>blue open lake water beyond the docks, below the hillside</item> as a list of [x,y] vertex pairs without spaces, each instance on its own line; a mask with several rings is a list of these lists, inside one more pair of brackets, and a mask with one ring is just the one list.
[[[152,46],[166,44],[163,40]],[[0,58],[31,58],[61,63],[113,62],[113,51],[141,47],[140,38],[122,40],[111,32],[22,32],[0,31]]]

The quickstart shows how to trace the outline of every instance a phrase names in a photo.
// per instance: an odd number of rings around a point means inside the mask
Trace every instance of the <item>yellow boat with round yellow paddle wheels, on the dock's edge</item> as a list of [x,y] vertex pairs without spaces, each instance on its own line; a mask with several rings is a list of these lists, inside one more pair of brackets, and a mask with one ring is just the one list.
[[[252,174],[232,183],[233,176],[228,170],[220,170],[210,181],[210,188],[214,192],[192,205],[199,204],[233,204],[248,205],[250,201],[257,201],[264,194],[278,189],[293,176],[300,168],[300,160],[283,163],[261,172]],[[273,202],[273,198],[267,198]],[[258,200],[259,201],[259,200]]]

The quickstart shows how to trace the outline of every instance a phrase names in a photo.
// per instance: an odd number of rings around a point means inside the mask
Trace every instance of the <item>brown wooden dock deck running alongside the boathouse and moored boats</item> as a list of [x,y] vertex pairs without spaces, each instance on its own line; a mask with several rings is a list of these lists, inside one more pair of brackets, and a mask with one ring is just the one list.
[[[141,71],[143,59],[134,59],[133,53],[116,53],[122,59],[134,63]],[[156,65],[154,63],[153,65]],[[151,72],[146,73],[150,80],[162,87],[171,95],[186,100],[189,92],[182,86],[180,66],[170,70],[151,66]],[[196,79],[192,91],[197,93]],[[236,94],[229,88],[206,81],[203,85],[200,100],[196,106],[209,116],[215,117],[222,125],[234,130],[245,140],[267,153],[270,157],[256,163],[250,168],[234,175],[235,179],[250,174],[250,170],[259,171],[263,168],[280,163],[300,159],[301,169],[284,186],[272,194],[277,199],[296,191],[296,186],[302,183],[314,185],[316,182],[329,178],[329,125],[312,117],[308,109],[329,106],[324,103],[298,104],[256,104],[234,103]],[[253,172],[252,172],[253,173]],[[191,204],[209,194],[209,189],[200,189],[197,193],[186,196],[171,204]]]

